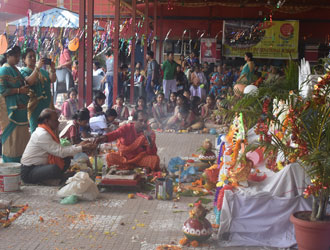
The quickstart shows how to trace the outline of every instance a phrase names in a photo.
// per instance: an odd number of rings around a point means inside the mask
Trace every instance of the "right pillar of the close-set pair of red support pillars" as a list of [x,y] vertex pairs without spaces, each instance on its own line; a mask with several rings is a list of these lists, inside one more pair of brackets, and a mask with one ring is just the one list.
[[87,53],[86,53],[86,104],[89,105],[93,98],[93,26],[94,26],[94,1],[87,0]]

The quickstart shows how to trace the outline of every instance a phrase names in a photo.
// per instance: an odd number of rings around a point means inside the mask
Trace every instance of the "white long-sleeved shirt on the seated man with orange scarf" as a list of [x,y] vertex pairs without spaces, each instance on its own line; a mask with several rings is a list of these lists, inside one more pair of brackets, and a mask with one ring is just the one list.
[[26,166],[47,165],[49,154],[65,158],[80,152],[81,146],[62,147],[45,129],[37,127],[24,150],[21,163]]

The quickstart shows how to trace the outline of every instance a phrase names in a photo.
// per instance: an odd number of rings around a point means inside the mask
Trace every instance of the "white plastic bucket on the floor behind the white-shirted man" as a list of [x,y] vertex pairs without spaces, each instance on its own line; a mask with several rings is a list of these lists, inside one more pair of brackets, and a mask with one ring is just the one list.
[[13,192],[20,189],[21,164],[0,163],[0,192]]

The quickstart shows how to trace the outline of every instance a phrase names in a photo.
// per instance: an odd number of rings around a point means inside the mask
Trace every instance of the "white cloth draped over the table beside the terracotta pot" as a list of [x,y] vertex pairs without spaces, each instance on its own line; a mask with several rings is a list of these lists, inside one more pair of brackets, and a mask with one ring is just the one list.
[[[254,129],[247,137],[249,143],[257,140]],[[229,161],[227,158],[224,160]],[[258,169],[267,174],[264,181],[249,182],[249,187],[234,193],[225,191],[218,231],[221,246],[291,247],[296,243],[290,215],[311,210],[311,200],[302,196],[309,183],[304,169],[298,163],[277,173],[267,169],[265,163]]]

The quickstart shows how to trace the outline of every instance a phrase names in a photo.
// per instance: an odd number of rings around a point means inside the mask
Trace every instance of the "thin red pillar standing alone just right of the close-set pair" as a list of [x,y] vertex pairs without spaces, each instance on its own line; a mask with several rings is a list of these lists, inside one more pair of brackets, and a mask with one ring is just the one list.
[[[115,33],[113,41],[113,103],[116,103],[118,94],[118,61],[119,61],[119,20],[120,20],[120,0],[115,0]],[[109,107],[111,108],[111,107]]]

